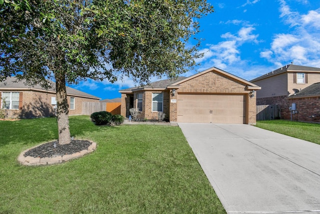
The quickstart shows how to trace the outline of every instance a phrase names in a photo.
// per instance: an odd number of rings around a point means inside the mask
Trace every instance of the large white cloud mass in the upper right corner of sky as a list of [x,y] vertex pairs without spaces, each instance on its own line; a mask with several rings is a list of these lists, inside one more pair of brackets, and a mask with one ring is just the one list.
[[290,34],[275,34],[270,49],[260,52],[274,65],[291,61],[296,65],[320,67],[320,9],[306,14],[292,12],[285,0],[279,0],[280,18],[290,28]]

